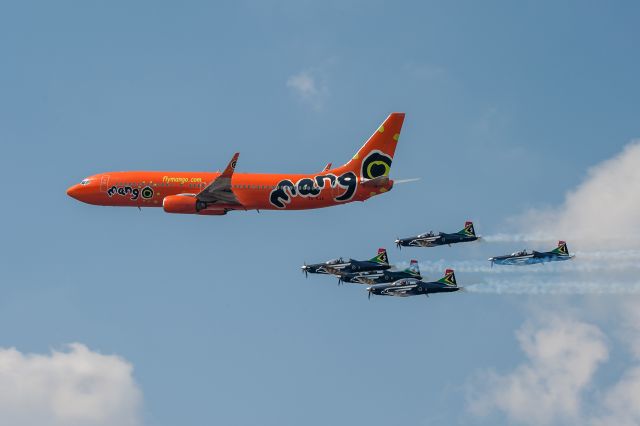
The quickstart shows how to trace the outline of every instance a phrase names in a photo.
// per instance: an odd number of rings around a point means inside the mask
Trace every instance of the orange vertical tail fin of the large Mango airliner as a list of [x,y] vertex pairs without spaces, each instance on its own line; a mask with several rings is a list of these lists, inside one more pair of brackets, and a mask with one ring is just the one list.
[[388,176],[403,121],[403,112],[391,113],[356,155],[347,164],[338,167],[335,172],[352,171],[361,179]]

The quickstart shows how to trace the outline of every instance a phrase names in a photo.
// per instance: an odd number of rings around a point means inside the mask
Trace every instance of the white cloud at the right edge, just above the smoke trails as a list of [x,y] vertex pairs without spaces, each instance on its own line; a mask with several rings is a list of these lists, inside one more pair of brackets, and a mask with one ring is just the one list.
[[592,168],[567,194],[560,208],[535,210],[522,218],[533,235],[590,243],[598,247],[640,245],[640,141]]

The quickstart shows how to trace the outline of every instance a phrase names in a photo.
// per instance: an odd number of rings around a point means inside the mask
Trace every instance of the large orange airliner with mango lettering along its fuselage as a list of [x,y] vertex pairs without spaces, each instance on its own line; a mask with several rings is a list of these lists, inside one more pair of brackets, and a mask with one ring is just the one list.
[[99,206],[160,207],[167,213],[223,215],[231,210],[303,210],[364,201],[393,187],[389,179],[404,113],[394,112],[345,165],[314,174],[111,172],[67,190]]

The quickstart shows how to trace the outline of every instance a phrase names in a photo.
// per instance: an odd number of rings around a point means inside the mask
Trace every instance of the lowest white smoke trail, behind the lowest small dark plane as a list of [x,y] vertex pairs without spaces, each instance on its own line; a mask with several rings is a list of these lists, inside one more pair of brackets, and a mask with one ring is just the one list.
[[488,280],[464,286],[471,293],[491,294],[640,294],[640,282]]

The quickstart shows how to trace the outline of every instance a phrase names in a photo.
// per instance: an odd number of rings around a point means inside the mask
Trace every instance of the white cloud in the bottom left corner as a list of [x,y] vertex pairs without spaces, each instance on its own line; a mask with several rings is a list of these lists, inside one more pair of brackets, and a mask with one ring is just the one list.
[[142,395],[133,367],[74,343],[23,354],[0,348],[0,423],[12,426],[136,426]]

